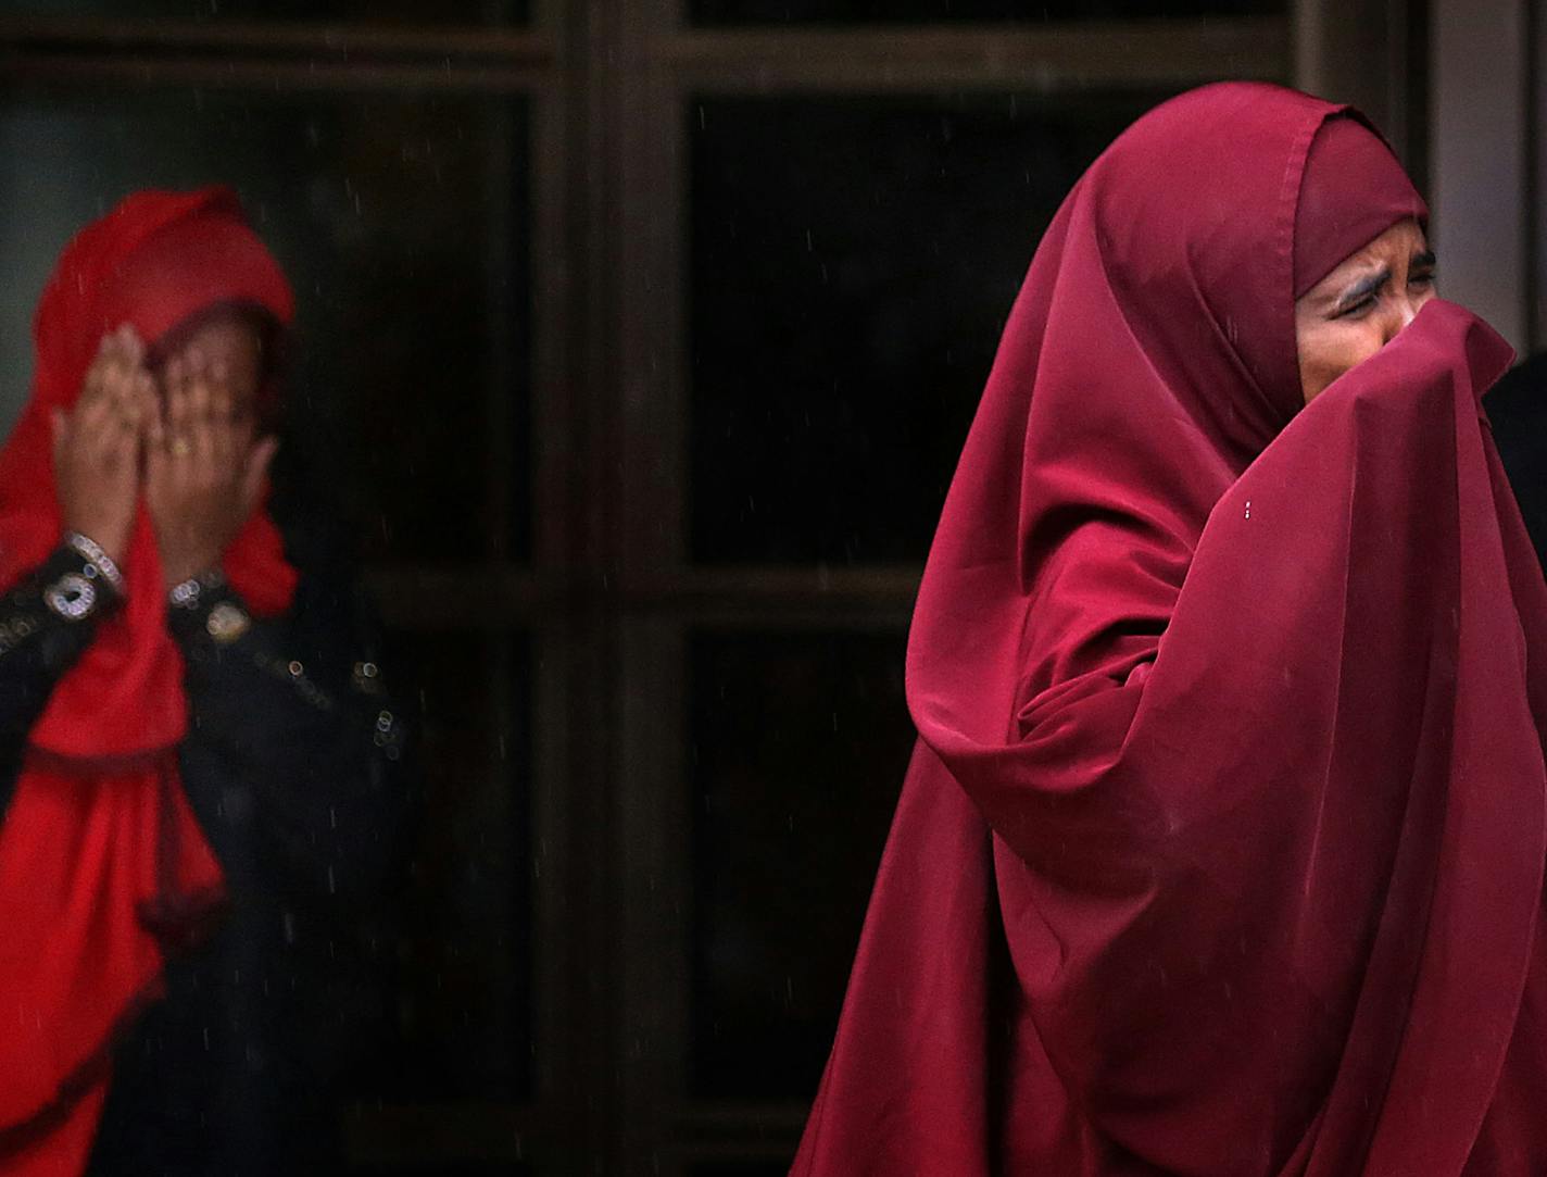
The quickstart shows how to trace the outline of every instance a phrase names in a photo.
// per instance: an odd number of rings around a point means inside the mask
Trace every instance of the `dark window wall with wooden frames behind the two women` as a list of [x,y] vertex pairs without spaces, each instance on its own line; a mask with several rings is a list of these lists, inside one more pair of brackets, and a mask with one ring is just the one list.
[[425,711],[351,1171],[783,1172],[1067,186],[1200,82],[1355,101],[1541,345],[1544,62],[1528,0],[9,0],[0,418],[76,227],[235,184]]

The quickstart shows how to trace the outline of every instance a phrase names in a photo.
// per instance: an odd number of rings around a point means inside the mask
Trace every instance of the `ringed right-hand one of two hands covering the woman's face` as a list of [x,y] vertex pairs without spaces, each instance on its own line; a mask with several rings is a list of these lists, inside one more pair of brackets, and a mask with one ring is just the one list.
[[251,415],[235,415],[229,371],[201,351],[167,360],[166,408],[145,441],[145,501],[167,586],[220,566],[252,515],[278,449],[254,441]]

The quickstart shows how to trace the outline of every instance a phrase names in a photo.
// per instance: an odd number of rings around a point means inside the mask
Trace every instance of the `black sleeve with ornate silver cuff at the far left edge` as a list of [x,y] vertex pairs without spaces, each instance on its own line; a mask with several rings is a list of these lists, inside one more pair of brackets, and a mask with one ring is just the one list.
[[54,684],[121,600],[96,566],[68,544],[0,597],[0,814],[15,789],[28,732]]

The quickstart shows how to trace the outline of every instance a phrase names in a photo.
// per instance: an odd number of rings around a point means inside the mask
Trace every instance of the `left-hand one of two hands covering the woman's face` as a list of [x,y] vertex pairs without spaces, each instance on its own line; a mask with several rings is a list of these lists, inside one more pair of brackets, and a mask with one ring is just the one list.
[[68,531],[124,558],[139,496],[144,424],[156,411],[145,348],[131,326],[102,337],[73,411],[56,408],[54,484]]

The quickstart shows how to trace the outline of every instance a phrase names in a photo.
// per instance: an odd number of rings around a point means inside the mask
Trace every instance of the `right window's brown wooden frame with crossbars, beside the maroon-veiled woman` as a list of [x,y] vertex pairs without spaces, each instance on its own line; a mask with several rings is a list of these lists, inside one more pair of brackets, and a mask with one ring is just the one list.
[[[916,566],[736,566],[688,561],[687,150],[701,94],[1080,93],[1238,77],[1287,80],[1282,19],[865,29],[687,29],[676,0],[616,14],[606,161],[617,193],[614,320],[619,413],[608,450],[622,472],[614,558],[620,742],[616,857],[623,936],[617,1171],[684,1174],[713,1162],[789,1157],[806,1103],[688,1097],[692,911],[682,747],[688,636],[698,628],[902,631]],[[747,1059],[755,1067],[756,1059]],[[640,1158],[653,1158],[648,1169]]]

